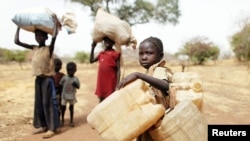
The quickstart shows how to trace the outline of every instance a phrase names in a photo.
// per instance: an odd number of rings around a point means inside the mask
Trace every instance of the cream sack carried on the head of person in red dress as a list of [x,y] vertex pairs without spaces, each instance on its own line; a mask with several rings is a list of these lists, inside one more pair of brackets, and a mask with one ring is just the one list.
[[96,14],[92,38],[95,42],[101,42],[105,36],[115,41],[118,51],[122,45],[136,48],[137,41],[132,35],[130,25],[100,8]]

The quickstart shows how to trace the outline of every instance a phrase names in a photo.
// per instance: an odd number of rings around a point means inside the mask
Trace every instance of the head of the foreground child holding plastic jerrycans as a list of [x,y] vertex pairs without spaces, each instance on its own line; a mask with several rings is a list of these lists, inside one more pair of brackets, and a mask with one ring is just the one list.
[[159,38],[149,37],[140,43],[139,62],[145,69],[161,61],[163,56],[163,44]]

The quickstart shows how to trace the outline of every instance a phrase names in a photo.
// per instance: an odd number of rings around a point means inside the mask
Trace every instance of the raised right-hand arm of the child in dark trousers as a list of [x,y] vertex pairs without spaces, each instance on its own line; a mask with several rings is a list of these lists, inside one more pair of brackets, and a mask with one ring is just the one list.
[[58,34],[58,26],[59,26],[59,22],[57,17],[54,15],[53,17],[53,22],[54,22],[54,28],[53,28],[53,34],[52,34],[52,39],[50,42],[50,57],[52,57],[53,52],[54,52],[54,47],[55,47],[55,42],[56,42],[56,37]]

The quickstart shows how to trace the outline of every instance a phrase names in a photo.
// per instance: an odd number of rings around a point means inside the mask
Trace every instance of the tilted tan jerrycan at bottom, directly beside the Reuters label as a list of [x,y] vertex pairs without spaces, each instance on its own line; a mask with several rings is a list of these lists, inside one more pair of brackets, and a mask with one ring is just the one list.
[[179,102],[158,127],[149,130],[154,141],[207,141],[207,120],[190,100]]

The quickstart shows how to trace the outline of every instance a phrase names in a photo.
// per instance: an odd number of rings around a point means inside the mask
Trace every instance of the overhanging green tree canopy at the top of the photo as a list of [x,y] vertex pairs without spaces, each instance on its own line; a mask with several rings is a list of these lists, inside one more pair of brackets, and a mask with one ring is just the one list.
[[160,24],[177,24],[180,17],[178,0],[71,0],[87,6],[91,16],[102,7],[131,26],[157,22]]

